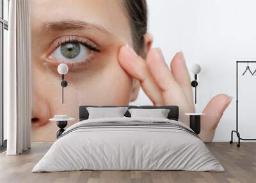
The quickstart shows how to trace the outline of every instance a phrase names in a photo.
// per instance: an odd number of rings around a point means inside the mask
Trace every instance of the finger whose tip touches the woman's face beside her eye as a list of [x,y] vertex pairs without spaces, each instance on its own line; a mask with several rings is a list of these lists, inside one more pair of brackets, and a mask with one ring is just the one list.
[[118,52],[118,61],[129,75],[140,81],[141,88],[154,105],[163,105],[161,90],[154,82],[143,58],[138,56],[131,47],[124,45]]

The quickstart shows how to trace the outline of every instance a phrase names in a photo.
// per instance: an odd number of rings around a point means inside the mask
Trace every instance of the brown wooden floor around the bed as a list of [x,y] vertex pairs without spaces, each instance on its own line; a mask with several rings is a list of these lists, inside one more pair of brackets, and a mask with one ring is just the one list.
[[256,143],[207,143],[224,166],[225,172],[194,171],[66,171],[31,173],[31,169],[51,147],[51,143],[33,143],[31,150],[19,156],[0,154],[0,182],[256,182]]

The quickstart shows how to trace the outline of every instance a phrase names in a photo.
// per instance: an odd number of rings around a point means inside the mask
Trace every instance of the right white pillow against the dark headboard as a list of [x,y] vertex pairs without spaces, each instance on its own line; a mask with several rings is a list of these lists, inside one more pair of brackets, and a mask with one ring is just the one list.
[[128,109],[131,118],[167,118],[170,109]]

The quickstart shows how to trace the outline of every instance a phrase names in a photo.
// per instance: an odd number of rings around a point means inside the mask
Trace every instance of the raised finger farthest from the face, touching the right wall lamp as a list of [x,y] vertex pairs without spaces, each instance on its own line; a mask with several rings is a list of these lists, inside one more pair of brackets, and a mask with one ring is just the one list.
[[171,62],[171,70],[175,81],[179,83],[180,87],[184,91],[190,106],[195,109],[193,102],[193,92],[191,87],[191,80],[186,67],[185,58],[182,52],[177,52]]

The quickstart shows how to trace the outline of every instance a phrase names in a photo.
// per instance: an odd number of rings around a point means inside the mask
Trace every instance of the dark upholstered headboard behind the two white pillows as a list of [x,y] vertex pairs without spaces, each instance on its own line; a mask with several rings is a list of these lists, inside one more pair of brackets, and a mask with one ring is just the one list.
[[[89,113],[86,109],[86,107],[120,107],[120,106],[80,106],[79,107],[79,121],[87,120],[89,117]],[[170,109],[170,112],[168,113],[168,119],[170,120],[179,120],[179,107],[178,106],[127,106],[129,109],[131,108],[141,108],[141,109],[158,109],[158,108],[164,108],[164,109]],[[131,114],[127,110],[124,114],[126,117],[131,117]]]

